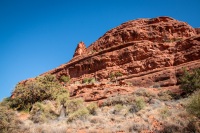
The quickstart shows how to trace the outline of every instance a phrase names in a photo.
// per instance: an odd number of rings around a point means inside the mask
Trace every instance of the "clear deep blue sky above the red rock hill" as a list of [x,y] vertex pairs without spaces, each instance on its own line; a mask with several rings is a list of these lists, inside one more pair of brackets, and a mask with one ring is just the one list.
[[68,62],[77,43],[137,18],[200,27],[200,0],[0,0],[0,101],[15,85]]

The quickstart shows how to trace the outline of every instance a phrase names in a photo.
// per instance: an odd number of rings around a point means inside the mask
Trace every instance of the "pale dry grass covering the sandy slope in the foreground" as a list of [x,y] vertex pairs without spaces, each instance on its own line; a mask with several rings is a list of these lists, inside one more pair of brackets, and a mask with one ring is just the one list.
[[[136,94],[112,97],[107,104],[95,109],[95,113],[86,113],[84,119],[68,122],[67,116],[62,120],[49,120],[37,124],[26,120],[20,132],[25,133],[139,133],[139,132],[196,132],[200,129],[199,118],[188,114],[184,104],[187,99],[163,100],[148,89]],[[155,94],[155,95],[154,95]],[[95,105],[89,107],[92,112]],[[132,111],[139,108],[137,111]]]

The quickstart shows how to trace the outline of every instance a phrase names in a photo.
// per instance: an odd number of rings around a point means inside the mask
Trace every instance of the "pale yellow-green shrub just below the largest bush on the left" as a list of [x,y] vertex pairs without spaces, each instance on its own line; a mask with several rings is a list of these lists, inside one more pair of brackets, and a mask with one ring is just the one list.
[[53,110],[53,104],[50,102],[36,102],[31,109],[31,120],[35,123],[46,122],[50,119],[57,118],[58,114]]

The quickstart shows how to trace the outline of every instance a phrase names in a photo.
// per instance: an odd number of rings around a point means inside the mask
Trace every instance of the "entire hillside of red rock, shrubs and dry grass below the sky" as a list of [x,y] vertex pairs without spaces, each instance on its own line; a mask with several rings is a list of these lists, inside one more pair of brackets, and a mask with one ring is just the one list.
[[19,82],[1,103],[0,131],[200,132],[199,68],[198,28],[170,17],[128,21]]

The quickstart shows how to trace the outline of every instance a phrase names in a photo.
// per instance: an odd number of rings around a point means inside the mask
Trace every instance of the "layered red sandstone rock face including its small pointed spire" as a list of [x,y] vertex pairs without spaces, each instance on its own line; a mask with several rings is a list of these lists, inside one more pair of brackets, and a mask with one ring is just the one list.
[[[183,68],[200,68],[198,33],[198,29],[170,17],[129,21],[106,32],[88,48],[80,42],[70,62],[47,73],[57,78],[68,75],[72,83],[96,78],[106,83],[114,79],[134,86],[174,88]],[[84,87],[71,89],[71,94],[92,101],[110,93],[131,92],[118,87],[104,95],[105,88],[96,87],[96,97]]]

